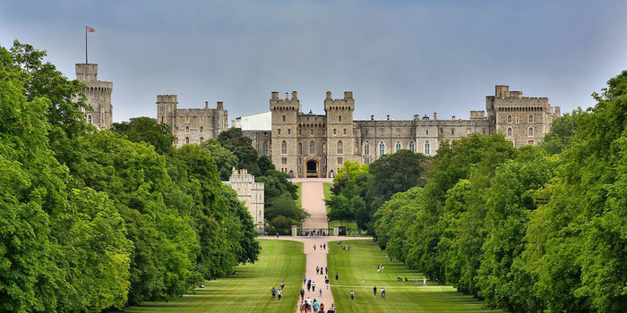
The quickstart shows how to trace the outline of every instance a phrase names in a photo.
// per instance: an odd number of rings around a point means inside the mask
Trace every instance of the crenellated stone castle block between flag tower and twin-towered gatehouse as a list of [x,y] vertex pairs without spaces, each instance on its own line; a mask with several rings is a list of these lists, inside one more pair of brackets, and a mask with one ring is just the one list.
[[217,138],[219,133],[228,130],[228,111],[219,101],[216,108],[177,108],[176,95],[157,96],[157,121],[167,123],[175,136],[174,145],[179,148],[186,143],[202,143]]

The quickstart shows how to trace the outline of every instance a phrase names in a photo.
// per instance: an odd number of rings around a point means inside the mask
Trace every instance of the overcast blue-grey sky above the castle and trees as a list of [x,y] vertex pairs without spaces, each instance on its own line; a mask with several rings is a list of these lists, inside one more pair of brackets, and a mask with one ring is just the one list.
[[224,101],[229,120],[297,90],[353,90],[356,119],[468,118],[494,85],[569,112],[627,69],[627,1],[4,1],[0,45],[46,49],[75,78],[84,62],[114,83],[114,121]]

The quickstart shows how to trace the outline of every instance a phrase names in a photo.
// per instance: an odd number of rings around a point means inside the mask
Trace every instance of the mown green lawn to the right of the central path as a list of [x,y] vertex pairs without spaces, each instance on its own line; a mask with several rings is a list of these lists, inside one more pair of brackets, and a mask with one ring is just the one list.
[[[487,312],[481,309],[482,302],[468,295],[456,292],[449,285],[427,283],[422,286],[423,275],[408,269],[400,263],[391,263],[385,252],[370,241],[342,241],[350,250],[342,250],[336,244],[330,245],[329,274],[331,291],[339,312]],[[377,266],[385,268],[377,272]],[[335,273],[339,281],[335,281]],[[408,277],[408,283],[397,283],[397,277]],[[414,286],[418,278],[418,287]],[[362,284],[362,279],[365,283]],[[373,287],[377,287],[377,298]],[[381,298],[384,287],[386,297]],[[350,291],[355,292],[355,300],[350,300]]]

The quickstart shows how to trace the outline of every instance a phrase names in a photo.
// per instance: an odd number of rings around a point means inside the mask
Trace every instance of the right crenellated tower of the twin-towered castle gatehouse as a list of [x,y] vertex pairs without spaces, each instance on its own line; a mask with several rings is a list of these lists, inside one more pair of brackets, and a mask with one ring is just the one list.
[[324,112],[327,115],[327,177],[337,174],[346,160],[355,159],[353,111],[355,99],[352,91],[344,91],[342,99],[333,99],[331,91],[327,91],[324,99]]

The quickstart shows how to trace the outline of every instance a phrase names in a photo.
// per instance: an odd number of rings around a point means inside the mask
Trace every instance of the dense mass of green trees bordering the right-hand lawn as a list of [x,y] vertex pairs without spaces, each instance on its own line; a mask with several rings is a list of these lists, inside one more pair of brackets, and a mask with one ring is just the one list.
[[624,311],[627,71],[592,96],[537,147],[501,134],[443,144],[424,185],[375,212],[381,248],[488,308]]

